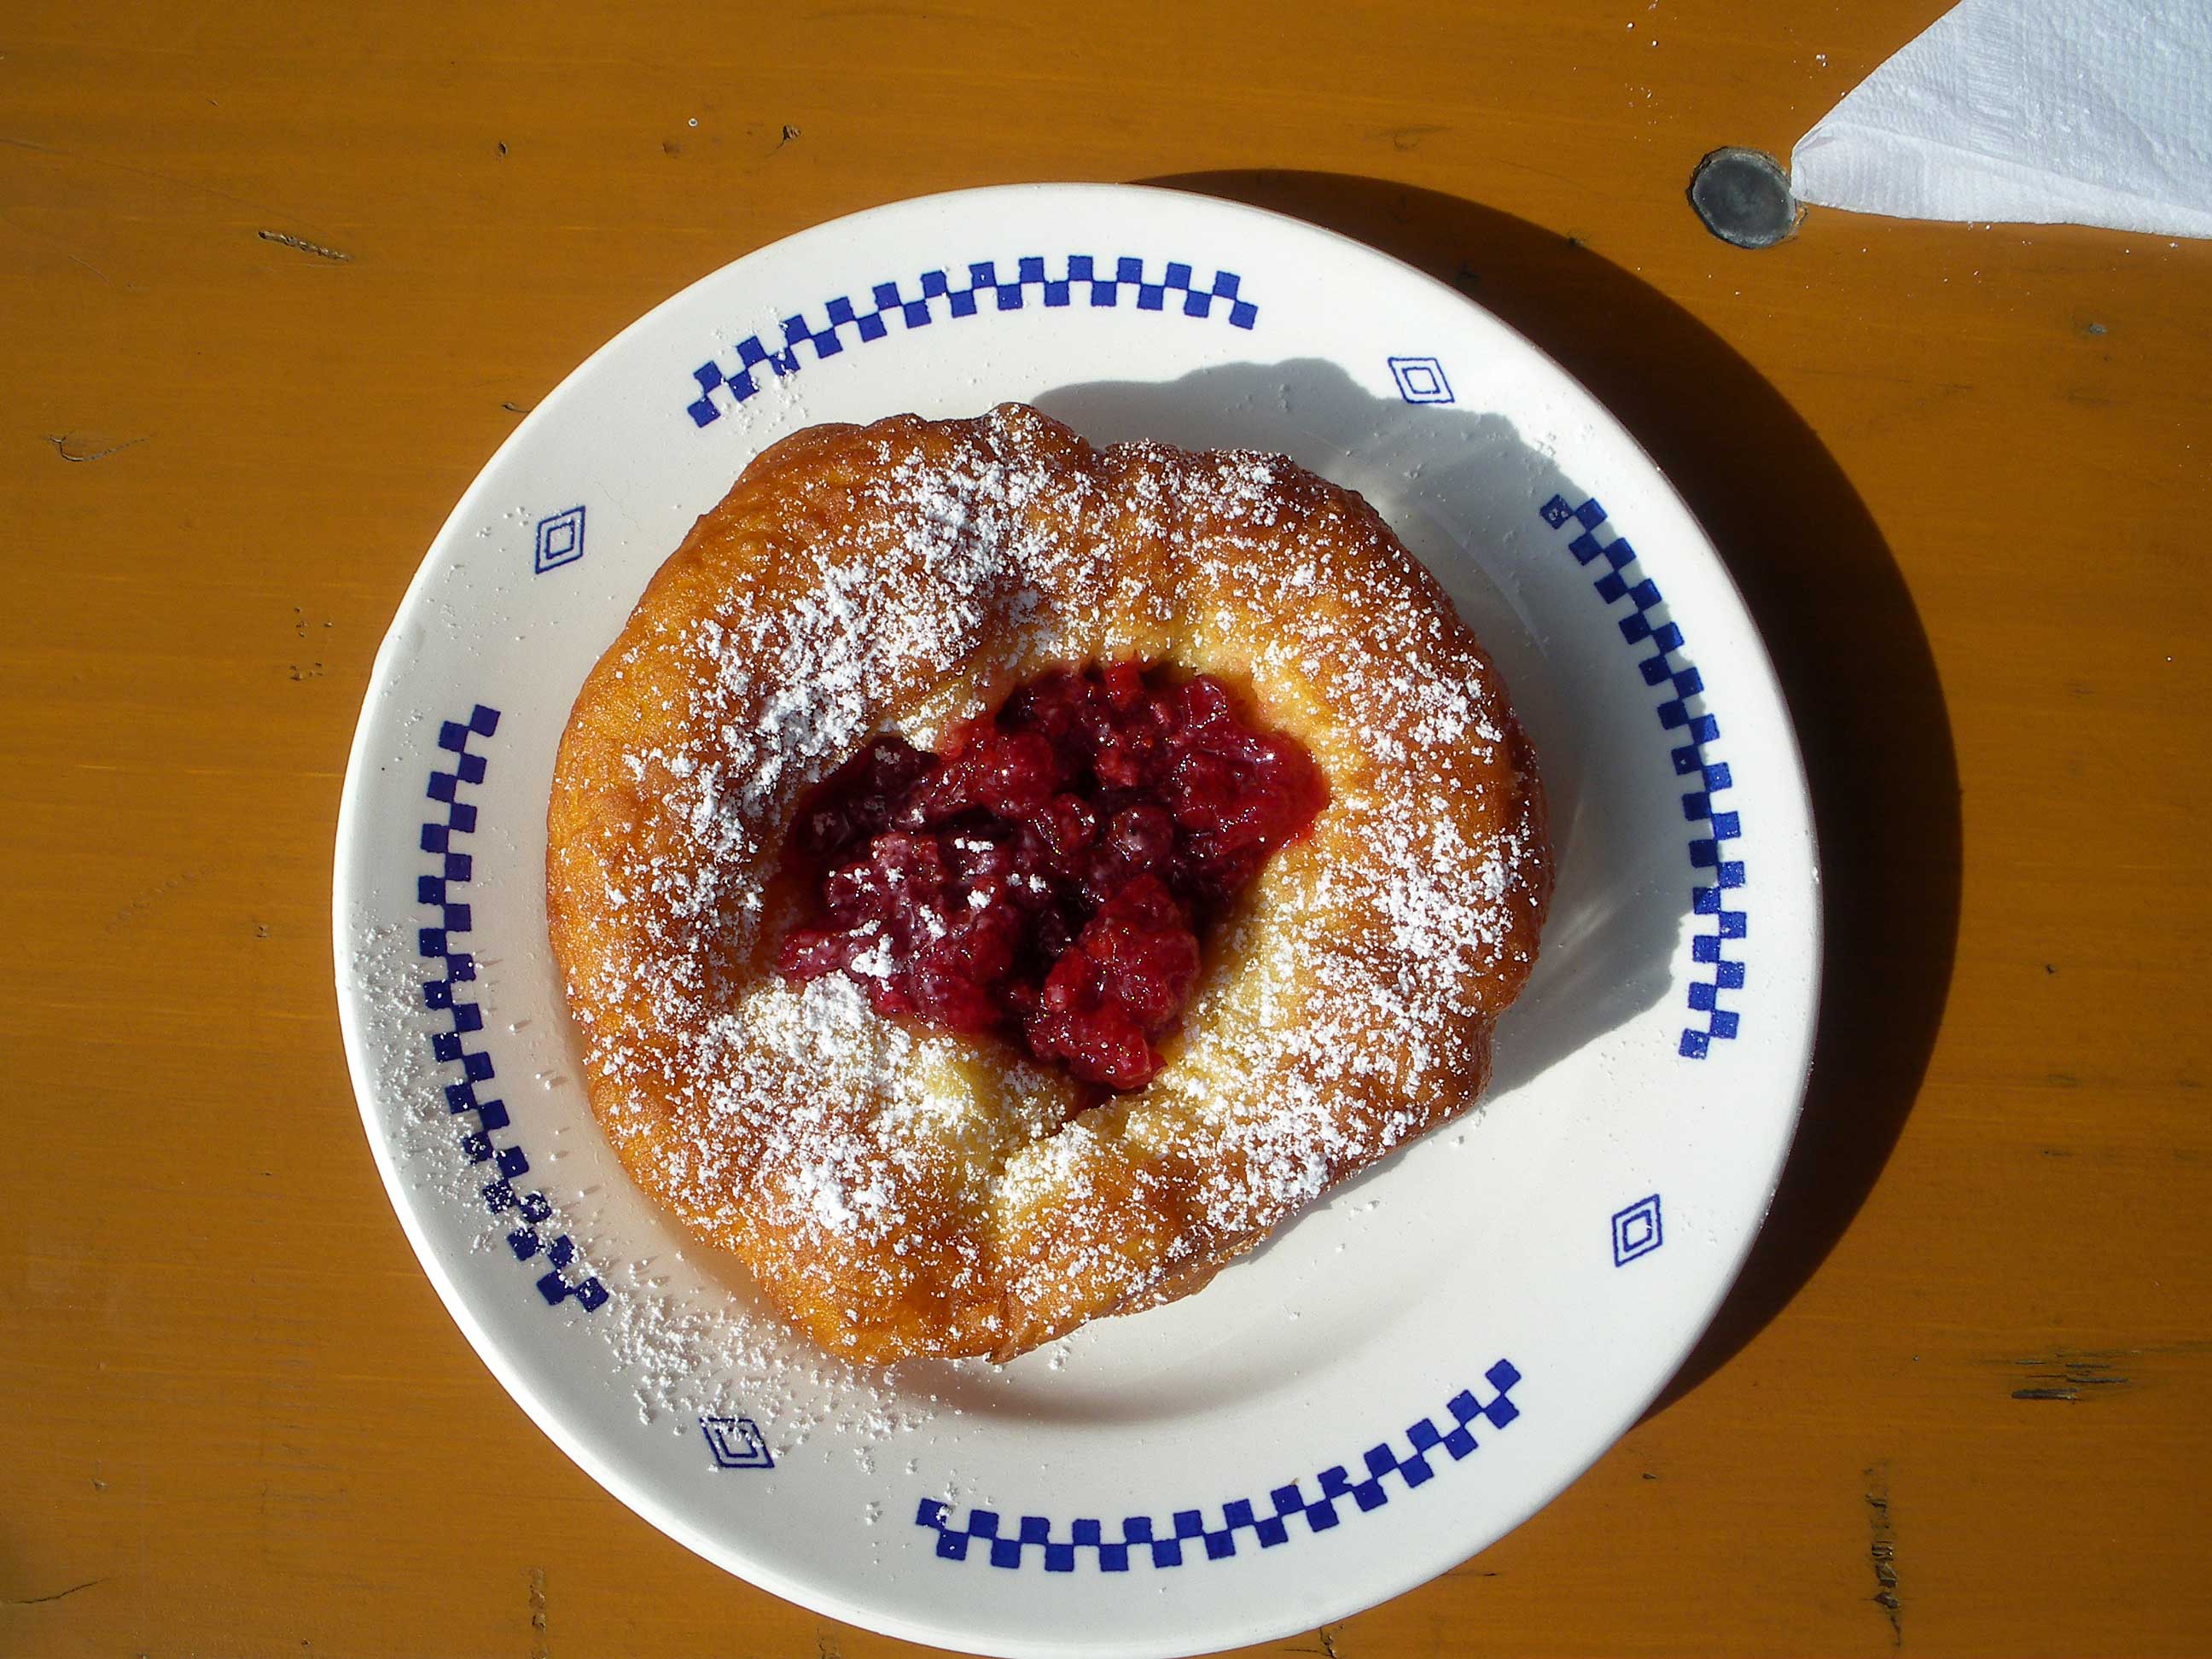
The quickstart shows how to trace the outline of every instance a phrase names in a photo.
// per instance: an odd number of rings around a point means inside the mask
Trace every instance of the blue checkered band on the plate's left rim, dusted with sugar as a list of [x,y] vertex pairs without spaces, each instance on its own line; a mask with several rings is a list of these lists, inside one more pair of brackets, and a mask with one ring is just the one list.
[[451,759],[451,770],[431,768],[429,799],[445,805],[445,818],[429,818],[422,825],[422,852],[431,856],[429,874],[416,876],[416,900],[431,911],[431,925],[416,933],[420,956],[440,967],[445,978],[422,980],[422,1004],[436,1013],[453,1015],[451,1031],[431,1033],[429,1046],[440,1064],[453,1066],[453,1079],[445,1086],[447,1110],[460,1121],[460,1150],[471,1164],[484,1166],[491,1179],[482,1188],[484,1208],[498,1217],[513,1217],[513,1232],[507,1248],[515,1261],[531,1263],[538,1276],[538,1294],[546,1303],[575,1303],[588,1314],[606,1301],[606,1290],[597,1279],[571,1281],[564,1270],[575,1261],[575,1245],[566,1234],[546,1239],[538,1225],[553,1217],[553,1206],[544,1192],[524,1192],[520,1181],[531,1172],[531,1161],[511,1139],[502,1144],[500,1133],[509,1128],[507,1104],[487,1099],[484,1088],[498,1071],[482,1048],[484,1009],[467,1000],[476,984],[476,956],[458,949],[473,929],[469,914],[469,880],[476,876],[476,856],[462,852],[462,836],[476,830],[476,807],[462,801],[462,790],[484,781],[484,757],[469,752],[469,739],[491,737],[500,730],[500,710],[478,703],[467,721],[445,721],[438,728],[438,748]]

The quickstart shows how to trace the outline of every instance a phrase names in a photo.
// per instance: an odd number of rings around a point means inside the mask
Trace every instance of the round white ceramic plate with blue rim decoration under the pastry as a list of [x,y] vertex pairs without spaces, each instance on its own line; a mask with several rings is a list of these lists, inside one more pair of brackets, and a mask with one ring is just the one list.
[[[1559,887],[1473,1113],[1194,1298],[1002,1369],[863,1376],[761,1316],[599,1139],[544,940],[546,785],[584,672],[759,449],[1006,398],[1360,489],[1500,659]],[[1818,933],[1774,675],[1628,434],[1369,248],[1113,186],[807,230],[568,376],[407,591],[336,860],[369,1146],[500,1383],[732,1573],[993,1655],[1312,1628],[1566,1486],[1681,1363],[1765,1214]]]

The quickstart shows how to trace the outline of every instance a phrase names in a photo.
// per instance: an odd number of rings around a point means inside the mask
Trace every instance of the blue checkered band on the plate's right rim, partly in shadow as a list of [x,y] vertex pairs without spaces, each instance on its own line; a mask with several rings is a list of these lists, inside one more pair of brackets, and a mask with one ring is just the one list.
[[1679,1053],[1703,1060],[1714,1037],[1736,1035],[1739,1013],[1721,1006],[1721,993],[1743,989],[1743,962],[1728,951],[1750,927],[1741,896],[1743,860],[1732,858],[1734,849],[1728,845],[1743,834],[1743,821],[1717,801],[1734,785],[1728,761],[1710,752],[1721,739],[1721,723],[1705,712],[1705,681],[1697,668],[1677,661],[1683,650],[1681,628],[1666,619],[1659,584],[1644,575],[1635,546],[1610,531],[1599,540],[1606,509],[1595,500],[1568,507],[1564,495],[1553,495],[1540,511],[1555,531],[1573,531],[1566,551],[1579,564],[1604,562],[1595,582],[1597,597],[1606,604],[1628,599],[1630,611],[1619,619],[1621,639],[1639,653],[1644,684],[1659,690],[1659,726],[1677,739],[1674,774],[1692,781],[1681,796],[1681,816],[1692,825],[1690,867],[1699,872],[1690,887],[1690,909],[1712,931],[1690,936],[1690,960],[1699,969],[1690,980],[1690,1013],[1703,1022],[1683,1029]]

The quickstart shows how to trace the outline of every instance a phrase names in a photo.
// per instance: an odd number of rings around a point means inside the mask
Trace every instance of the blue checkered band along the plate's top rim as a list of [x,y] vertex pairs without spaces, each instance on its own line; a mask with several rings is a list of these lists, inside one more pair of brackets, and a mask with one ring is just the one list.
[[1093,254],[1066,254],[1046,274],[1042,254],[1026,254],[1013,261],[1013,270],[1002,270],[995,259],[978,259],[962,270],[925,270],[916,283],[876,283],[865,301],[838,294],[823,305],[821,323],[805,312],[785,316],[781,341],[763,341],[748,334],[737,343],[737,367],[723,363],[701,363],[692,369],[699,396],[688,405],[692,422],[710,427],[721,420],[717,394],[732,405],[761,392],[763,378],[785,378],[799,374],[805,358],[799,347],[807,347],[821,363],[843,352],[847,345],[880,341],[898,323],[914,332],[953,316],[975,316],[989,301],[993,312],[1018,312],[1024,305],[1093,305],[1115,307],[1128,294],[1139,312],[1181,312],[1183,316],[1219,316],[1230,327],[1252,327],[1259,321],[1259,305],[1241,292],[1241,279],[1232,270],[1217,270],[1210,283],[1199,283],[1192,268],[1168,261],[1155,276],[1144,259],[1095,259]]

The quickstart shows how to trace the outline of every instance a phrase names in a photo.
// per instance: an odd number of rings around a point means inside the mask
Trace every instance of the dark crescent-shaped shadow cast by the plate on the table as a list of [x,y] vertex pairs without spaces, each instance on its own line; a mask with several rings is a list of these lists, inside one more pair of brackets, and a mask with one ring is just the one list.
[[1387,179],[1228,170],[1137,184],[1356,237],[1517,327],[1652,453],[1767,641],[1820,836],[1814,1071],[1772,1214],[1650,1409],[1663,1411],[1781,1314],[1834,1250],[1889,1161],[1936,1044],[1958,942],[1958,763],[1905,577],[1787,398],[1690,312],[1588,248]]

